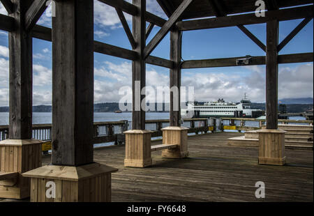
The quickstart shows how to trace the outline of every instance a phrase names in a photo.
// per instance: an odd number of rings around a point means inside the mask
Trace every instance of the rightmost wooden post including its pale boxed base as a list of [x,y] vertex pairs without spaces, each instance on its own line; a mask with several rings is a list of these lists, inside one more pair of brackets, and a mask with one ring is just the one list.
[[258,130],[259,164],[285,164],[285,131],[278,129],[278,20],[267,22],[266,129]]

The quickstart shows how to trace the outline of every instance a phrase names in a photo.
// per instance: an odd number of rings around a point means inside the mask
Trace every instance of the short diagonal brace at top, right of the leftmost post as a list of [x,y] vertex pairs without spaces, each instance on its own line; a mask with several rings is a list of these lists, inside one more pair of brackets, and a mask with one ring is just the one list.
[[25,14],[25,29],[29,31],[35,26],[47,8],[47,0],[34,0]]

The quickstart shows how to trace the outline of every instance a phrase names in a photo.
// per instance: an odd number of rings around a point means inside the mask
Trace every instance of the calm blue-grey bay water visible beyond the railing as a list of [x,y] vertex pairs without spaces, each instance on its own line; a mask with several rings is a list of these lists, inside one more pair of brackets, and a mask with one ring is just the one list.
[[[0,125],[8,125],[9,121],[8,112],[0,112]],[[169,119],[169,113],[155,113],[149,112],[146,114],[146,119]],[[132,121],[132,113],[125,112],[116,114],[114,112],[97,112],[94,113],[94,122],[101,121],[121,121],[128,120]],[[33,124],[50,124],[52,123],[51,112],[34,112],[33,113]]]

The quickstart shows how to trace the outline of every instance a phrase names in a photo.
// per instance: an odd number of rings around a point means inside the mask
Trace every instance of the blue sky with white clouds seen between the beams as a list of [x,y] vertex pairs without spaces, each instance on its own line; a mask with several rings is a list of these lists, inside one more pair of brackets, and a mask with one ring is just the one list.
[[[128,0],[130,2],[130,0]],[[147,10],[167,19],[156,0],[147,0]],[[0,13],[7,15],[0,3]],[[131,28],[131,16],[124,13]],[[301,20],[280,22],[281,42]],[[51,27],[51,7],[38,23]],[[148,25],[148,24],[147,24]],[[266,24],[246,26],[266,45]],[[147,43],[160,30],[155,26]],[[114,8],[94,0],[94,39],[131,49]],[[313,52],[313,20],[279,54]],[[169,59],[169,33],[151,55]],[[216,59],[237,56],[264,56],[265,53],[237,27],[186,31],[182,39],[182,59]],[[130,88],[132,63],[104,54],[94,54],[94,102],[119,102],[119,90]],[[8,33],[0,30],[0,106],[8,106]],[[225,68],[186,69],[181,85],[194,86],[194,98],[212,101],[224,98],[239,102],[244,93],[252,102],[265,101],[265,66],[250,65]],[[169,86],[169,69],[147,64],[147,86]],[[124,88],[123,88],[124,87]],[[278,98],[313,98],[313,63],[279,65]],[[33,105],[52,104],[52,43],[33,38]]]

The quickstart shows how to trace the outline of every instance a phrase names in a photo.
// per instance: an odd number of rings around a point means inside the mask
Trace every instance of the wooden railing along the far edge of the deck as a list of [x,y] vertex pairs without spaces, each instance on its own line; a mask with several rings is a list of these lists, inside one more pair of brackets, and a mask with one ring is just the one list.
[[[182,126],[188,128],[188,134],[207,133],[208,131],[223,131],[223,130],[257,130],[262,128],[266,123],[265,120],[257,120],[255,118],[188,118],[184,119]],[[278,119],[280,124],[293,125],[313,125],[313,121],[308,120],[286,120]],[[124,131],[132,129],[130,121],[107,121],[94,123],[94,144],[102,144],[114,142],[120,144],[124,142]],[[151,137],[161,137],[162,128],[169,126],[169,120],[147,120],[146,129],[151,130]],[[0,141],[8,139],[8,125],[0,125]],[[52,125],[33,125],[33,139],[43,141],[51,141]],[[49,148],[49,147],[48,147]]]

